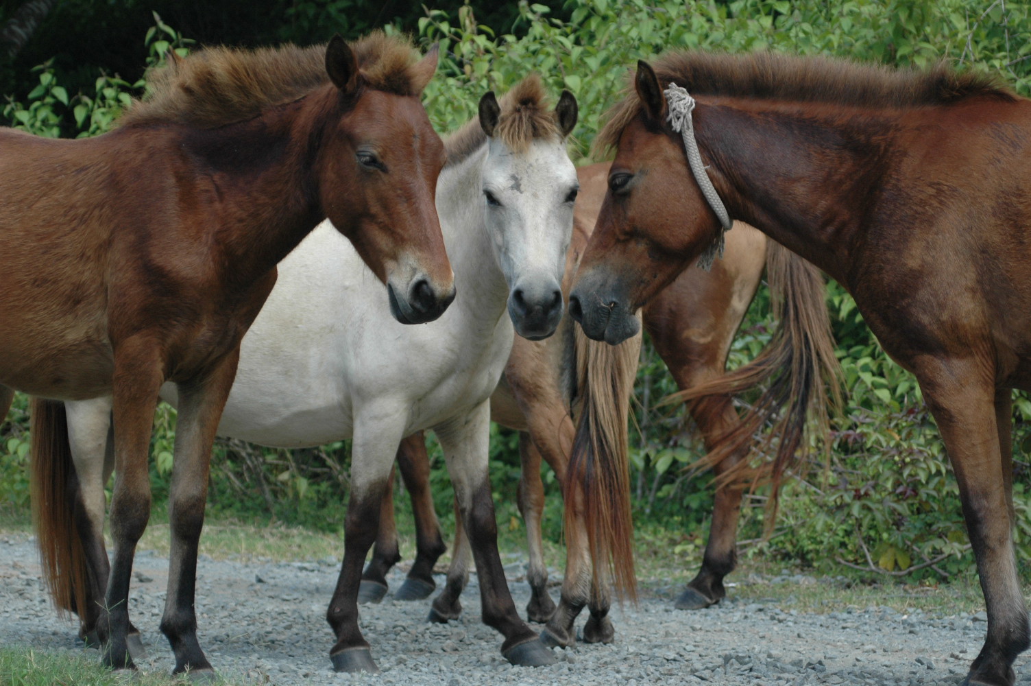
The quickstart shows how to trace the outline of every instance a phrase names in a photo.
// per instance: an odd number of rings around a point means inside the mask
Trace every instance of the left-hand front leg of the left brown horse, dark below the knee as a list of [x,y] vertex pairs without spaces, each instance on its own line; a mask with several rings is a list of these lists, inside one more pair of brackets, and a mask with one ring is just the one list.
[[147,455],[151,427],[163,382],[157,346],[138,337],[115,352],[113,377],[114,463],[118,478],[111,496],[114,557],[97,622],[101,660],[114,668],[135,668],[129,654],[129,585],[136,544],[151,517]]

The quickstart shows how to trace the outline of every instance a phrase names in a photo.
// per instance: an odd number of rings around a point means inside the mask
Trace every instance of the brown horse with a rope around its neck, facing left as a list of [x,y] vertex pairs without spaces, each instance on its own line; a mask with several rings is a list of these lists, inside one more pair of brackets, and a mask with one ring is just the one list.
[[[701,182],[667,123],[670,84],[698,98]],[[599,140],[618,151],[570,296],[585,332],[632,335],[633,313],[718,239],[706,173],[730,217],[838,280],[919,380],[956,470],[989,618],[965,683],[1012,684],[1031,643],[1010,439],[1010,389],[1031,389],[1031,102],[943,66],[681,53],[638,63]],[[620,517],[625,488],[599,493],[594,477],[622,468],[570,465],[590,517],[613,503]],[[599,551],[622,550],[613,526],[589,529]],[[616,565],[626,582],[629,561]]]

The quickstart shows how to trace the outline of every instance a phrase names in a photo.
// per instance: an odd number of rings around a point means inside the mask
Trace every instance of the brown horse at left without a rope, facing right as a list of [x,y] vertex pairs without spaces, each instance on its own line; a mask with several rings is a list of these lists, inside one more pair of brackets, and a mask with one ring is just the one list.
[[[110,133],[0,132],[0,388],[113,396],[115,552],[108,578],[90,579],[104,606],[58,599],[99,612],[106,664],[133,666],[127,600],[162,383],[177,386],[179,419],[161,629],[175,672],[208,671],[194,587],[211,444],[275,264],[328,216],[388,285],[384,305],[399,321],[435,319],[453,299],[433,202],[443,146],[419,100],[436,54],[415,57],[383,34],[202,51],[154,71],[153,94]],[[37,456],[66,440],[64,423],[61,403],[35,403]],[[52,495],[34,510],[62,507],[63,491]],[[68,507],[86,521],[81,501]],[[102,549],[52,550],[48,576],[85,568],[84,556],[108,569]]]

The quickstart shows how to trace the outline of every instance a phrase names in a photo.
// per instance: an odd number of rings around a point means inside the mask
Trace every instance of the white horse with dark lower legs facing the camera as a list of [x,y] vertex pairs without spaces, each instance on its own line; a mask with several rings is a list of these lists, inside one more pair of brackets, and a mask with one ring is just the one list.
[[[554,111],[546,109],[540,79],[530,76],[500,103],[493,93],[484,96],[478,122],[446,141],[436,205],[458,294],[440,319],[420,326],[391,319],[378,306],[383,285],[324,223],[279,263],[275,288],[243,338],[221,435],[286,448],[353,438],[343,564],[327,613],[338,672],[377,671],[358,628],[362,563],[376,536],[398,444],[423,429],[433,429],[444,451],[472,542],[484,622],[504,635],[501,652],[509,662],[555,661],[520,619],[498,555],[487,472],[489,398],[508,359],[513,323],[521,335],[541,338],[562,317],[560,284],[578,188],[565,138],[576,115],[568,92]],[[174,388],[164,388],[162,397],[174,404]],[[66,407],[74,464],[67,485],[75,503],[67,526],[44,527],[68,535],[40,541],[44,555],[75,545],[76,536],[85,546],[103,545],[110,401]],[[77,533],[76,523],[84,524]],[[98,575],[106,579],[107,570],[65,570],[48,583]],[[90,596],[91,587],[65,596],[86,598],[84,635],[93,628],[90,608],[102,600]]]

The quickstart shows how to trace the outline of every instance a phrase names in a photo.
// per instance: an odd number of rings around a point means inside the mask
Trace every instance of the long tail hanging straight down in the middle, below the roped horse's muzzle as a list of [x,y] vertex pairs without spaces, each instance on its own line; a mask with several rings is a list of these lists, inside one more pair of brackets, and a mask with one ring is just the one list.
[[636,599],[627,423],[641,337],[609,346],[574,329],[578,420],[565,483],[566,522],[577,513],[584,517],[594,583],[611,577],[619,597]]

